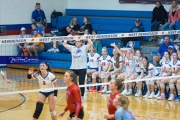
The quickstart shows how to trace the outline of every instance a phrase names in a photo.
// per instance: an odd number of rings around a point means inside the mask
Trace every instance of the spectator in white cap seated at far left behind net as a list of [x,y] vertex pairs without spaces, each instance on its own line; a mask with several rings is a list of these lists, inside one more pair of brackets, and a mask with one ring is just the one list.
[[[26,28],[22,27],[21,28],[21,33],[18,35],[17,38],[28,38],[29,36],[26,35]],[[26,49],[24,46],[26,46],[27,43],[18,43],[17,44],[17,51],[18,51],[18,54],[17,56],[21,56],[22,53],[23,53],[23,49]]]

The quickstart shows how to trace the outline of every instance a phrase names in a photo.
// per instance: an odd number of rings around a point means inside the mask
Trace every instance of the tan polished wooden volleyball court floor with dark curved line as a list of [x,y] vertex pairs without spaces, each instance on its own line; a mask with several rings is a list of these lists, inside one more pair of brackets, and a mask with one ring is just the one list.
[[[26,79],[27,70],[5,69],[8,79],[12,84],[6,84],[0,78],[0,92],[38,89],[38,82]],[[58,85],[65,86],[63,74],[56,74]],[[0,120],[32,120],[38,92],[0,95]],[[109,95],[100,93],[85,94],[83,103],[85,117],[83,120],[105,120],[103,118],[107,111]],[[129,96],[129,109],[136,116],[137,120],[180,120],[180,102],[145,99],[142,97]],[[39,120],[51,120],[48,102],[46,101]],[[56,112],[59,114],[66,106],[65,90],[59,90],[56,102]],[[66,120],[69,112],[58,120]]]

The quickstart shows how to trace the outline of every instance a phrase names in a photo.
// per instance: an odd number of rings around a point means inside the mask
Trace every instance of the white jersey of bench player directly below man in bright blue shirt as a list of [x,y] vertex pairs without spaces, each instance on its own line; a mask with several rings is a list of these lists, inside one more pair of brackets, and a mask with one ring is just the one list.
[[[165,60],[161,63],[161,70],[162,69],[170,69],[171,68],[171,61],[169,60],[168,62],[166,62]],[[170,72],[162,72],[161,76],[169,76],[171,73]]]

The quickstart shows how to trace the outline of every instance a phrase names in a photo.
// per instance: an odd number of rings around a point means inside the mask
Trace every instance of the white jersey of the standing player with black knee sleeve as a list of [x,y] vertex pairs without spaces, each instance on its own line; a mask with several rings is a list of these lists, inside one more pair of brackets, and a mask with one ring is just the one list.
[[39,86],[40,86],[40,89],[44,89],[43,91],[41,92],[51,92],[53,90],[46,90],[46,89],[50,89],[50,88],[54,88],[54,84],[53,82],[56,82],[56,77],[54,74],[52,74],[51,72],[47,72],[47,75],[45,77],[43,77],[41,74],[33,74],[32,77],[34,79],[38,79],[39,81]]

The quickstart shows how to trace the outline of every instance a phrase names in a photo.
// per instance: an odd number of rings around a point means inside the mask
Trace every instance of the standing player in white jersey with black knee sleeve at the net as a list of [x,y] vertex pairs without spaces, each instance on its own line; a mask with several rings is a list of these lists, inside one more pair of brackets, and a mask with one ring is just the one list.
[[[53,90],[54,87],[57,87],[57,79],[52,73],[52,70],[49,64],[42,62],[39,66],[39,70],[34,73],[34,68],[30,68],[28,71],[27,78],[30,80],[38,79],[39,86],[42,91],[38,94],[38,100],[36,103],[36,109],[33,115],[33,120],[37,120],[42,112],[43,105],[48,98],[49,109],[51,113],[52,120],[57,120],[56,111],[55,111],[55,101],[57,99],[57,90]],[[51,89],[51,90],[48,90]]]

